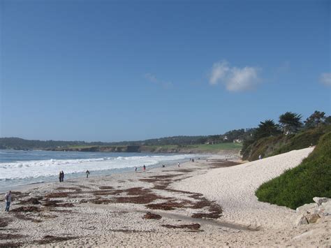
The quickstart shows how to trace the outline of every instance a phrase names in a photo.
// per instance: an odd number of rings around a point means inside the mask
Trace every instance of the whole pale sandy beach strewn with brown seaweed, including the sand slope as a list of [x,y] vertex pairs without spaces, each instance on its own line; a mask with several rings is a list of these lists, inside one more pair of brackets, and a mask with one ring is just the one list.
[[38,184],[0,212],[0,246],[330,247],[330,216],[295,226],[295,210],[254,194],[313,149]]

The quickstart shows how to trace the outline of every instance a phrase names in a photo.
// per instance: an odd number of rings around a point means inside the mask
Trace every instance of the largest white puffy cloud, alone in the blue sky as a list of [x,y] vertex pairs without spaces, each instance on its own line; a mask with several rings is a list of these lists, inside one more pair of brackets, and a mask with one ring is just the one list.
[[258,72],[260,68],[245,66],[231,67],[227,61],[217,62],[209,73],[209,83],[217,85],[219,82],[230,92],[239,92],[253,89],[260,82]]

